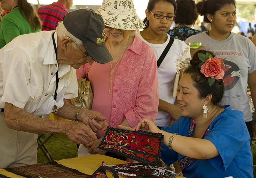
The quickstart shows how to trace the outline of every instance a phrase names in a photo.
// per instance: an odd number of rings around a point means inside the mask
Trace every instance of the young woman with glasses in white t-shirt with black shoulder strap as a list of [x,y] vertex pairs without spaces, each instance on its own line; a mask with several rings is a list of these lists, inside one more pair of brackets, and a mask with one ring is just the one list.
[[[172,38],[166,32],[175,18],[175,0],[150,0],[146,9],[144,23],[146,27],[138,32],[140,39],[151,46],[158,60]],[[174,39],[173,44],[158,68],[159,105],[155,124],[167,126],[178,119],[179,108],[174,105],[173,84],[176,76],[175,60],[187,47],[185,42]]]

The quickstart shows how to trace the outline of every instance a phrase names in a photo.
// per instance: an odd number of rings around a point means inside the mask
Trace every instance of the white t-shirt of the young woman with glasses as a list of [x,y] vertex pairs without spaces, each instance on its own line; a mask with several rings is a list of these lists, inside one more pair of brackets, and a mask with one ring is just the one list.
[[[162,44],[153,44],[148,43],[142,36],[140,32],[136,33],[140,39],[142,39],[145,43],[147,43],[155,53],[155,58],[158,60],[163,50],[167,46],[170,40],[170,35],[167,34],[166,42]],[[159,98],[170,104],[174,104],[175,99],[173,98],[173,84],[176,76],[176,64],[175,61],[177,57],[180,57],[184,49],[187,47],[187,44],[181,40],[174,39],[174,42],[166,54],[163,62],[158,68],[158,87],[159,87]],[[155,120],[155,124],[157,126],[163,127],[167,126],[170,122],[170,116],[167,112],[158,111],[157,119]]]

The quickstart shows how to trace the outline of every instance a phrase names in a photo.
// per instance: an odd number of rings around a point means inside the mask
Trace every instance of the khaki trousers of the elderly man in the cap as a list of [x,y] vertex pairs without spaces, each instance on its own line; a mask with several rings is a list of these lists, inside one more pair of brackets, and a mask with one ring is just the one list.
[[35,133],[8,128],[0,112],[0,169],[36,164],[37,137]]

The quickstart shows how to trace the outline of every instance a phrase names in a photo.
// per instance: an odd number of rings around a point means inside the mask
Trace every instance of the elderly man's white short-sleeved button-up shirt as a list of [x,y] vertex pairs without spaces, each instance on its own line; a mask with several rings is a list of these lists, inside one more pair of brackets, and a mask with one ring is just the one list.
[[[78,85],[73,67],[58,65],[52,33],[40,31],[17,36],[0,50],[0,108],[9,102],[35,116],[53,112],[64,104],[63,98],[77,96]],[[54,34],[57,44],[57,34]],[[59,73],[57,100],[56,71]]]

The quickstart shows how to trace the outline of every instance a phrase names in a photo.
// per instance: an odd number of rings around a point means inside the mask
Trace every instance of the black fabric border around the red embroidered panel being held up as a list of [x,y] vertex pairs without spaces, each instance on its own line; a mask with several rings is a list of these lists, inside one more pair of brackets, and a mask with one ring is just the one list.
[[138,158],[138,157],[134,157],[132,155],[128,155],[128,154],[126,154],[124,152],[120,152],[120,151],[117,151],[117,150],[112,149],[112,148],[101,147],[101,145],[105,143],[103,140],[106,139],[106,136],[108,135],[110,129],[114,129],[115,131],[123,132],[123,133],[132,133],[132,131],[128,131],[128,130],[124,130],[124,129],[114,128],[114,127],[109,127],[108,126],[108,129],[107,129],[105,135],[103,136],[101,143],[98,146],[99,149],[110,151],[110,152],[114,152],[114,153],[117,153],[119,155],[125,156],[127,158],[138,160],[139,162],[145,163],[147,165],[155,166],[157,164],[158,160],[160,159],[160,155],[161,155],[161,151],[162,151],[162,146],[163,146],[163,135],[162,135],[162,133],[153,133],[153,132],[147,132],[147,131],[142,131],[142,130],[139,130],[139,131],[135,132],[135,133],[142,133],[142,134],[144,134],[146,136],[149,136],[149,137],[156,136],[156,137],[160,138],[160,140],[159,140],[160,141],[159,142],[159,154],[157,156],[157,160],[156,160],[156,162],[150,162],[148,160],[145,160],[145,159],[142,159],[142,158]]

